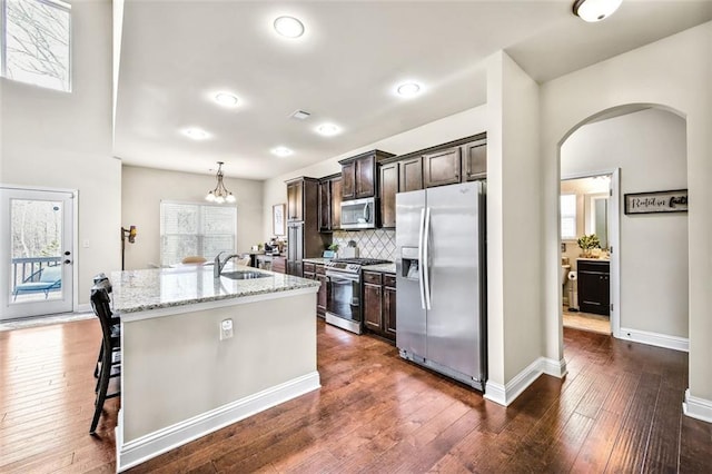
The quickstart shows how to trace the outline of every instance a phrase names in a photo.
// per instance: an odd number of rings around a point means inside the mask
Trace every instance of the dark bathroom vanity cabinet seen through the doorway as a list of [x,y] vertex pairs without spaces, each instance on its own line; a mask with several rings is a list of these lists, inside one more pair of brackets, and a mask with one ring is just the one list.
[[578,307],[584,313],[611,315],[611,261],[578,258]]

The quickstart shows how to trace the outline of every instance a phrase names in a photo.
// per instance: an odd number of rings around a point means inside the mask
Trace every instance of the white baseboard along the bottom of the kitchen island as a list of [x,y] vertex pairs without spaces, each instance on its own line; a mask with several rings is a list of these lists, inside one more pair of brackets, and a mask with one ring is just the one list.
[[117,472],[126,471],[240,419],[316,391],[320,386],[319,373],[315,371],[126,444],[121,431],[123,414],[119,412],[119,425],[116,428]]

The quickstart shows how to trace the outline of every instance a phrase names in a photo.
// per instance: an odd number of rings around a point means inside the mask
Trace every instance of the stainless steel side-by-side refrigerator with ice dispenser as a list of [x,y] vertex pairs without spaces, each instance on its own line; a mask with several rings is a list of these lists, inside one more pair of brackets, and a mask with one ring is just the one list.
[[483,392],[484,186],[396,195],[396,346],[403,358]]

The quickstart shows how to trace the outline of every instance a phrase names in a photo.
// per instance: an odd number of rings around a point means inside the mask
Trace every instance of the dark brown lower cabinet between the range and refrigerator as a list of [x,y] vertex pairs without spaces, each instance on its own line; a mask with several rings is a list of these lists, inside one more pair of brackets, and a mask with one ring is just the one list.
[[396,278],[380,271],[364,271],[364,326],[367,332],[396,339]]

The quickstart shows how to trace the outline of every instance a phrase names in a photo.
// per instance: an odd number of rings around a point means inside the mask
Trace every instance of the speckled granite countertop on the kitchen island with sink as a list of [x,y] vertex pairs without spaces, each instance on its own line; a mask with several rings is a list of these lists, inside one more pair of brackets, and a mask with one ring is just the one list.
[[241,280],[220,277],[216,280],[212,265],[112,271],[113,307],[119,313],[137,313],[319,286],[317,280],[240,265],[228,264],[226,270],[248,270],[269,276]]

